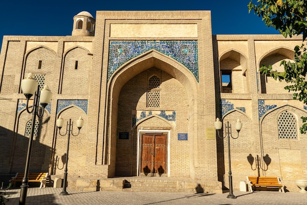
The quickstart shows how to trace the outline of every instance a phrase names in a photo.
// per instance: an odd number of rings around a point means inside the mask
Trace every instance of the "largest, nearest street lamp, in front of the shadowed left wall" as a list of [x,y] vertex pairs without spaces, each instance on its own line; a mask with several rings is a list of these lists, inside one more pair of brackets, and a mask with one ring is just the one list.
[[[25,175],[22,180],[21,190],[20,190],[20,198],[19,198],[19,204],[25,205],[26,204],[26,192],[28,188],[28,173],[29,173],[29,165],[30,165],[30,158],[31,158],[31,149],[32,149],[32,141],[33,141],[33,135],[34,135],[34,128],[35,128],[35,120],[36,115],[38,117],[42,117],[44,115],[44,109],[50,103],[52,93],[50,92],[50,89],[47,85],[43,87],[43,89],[39,90],[38,82],[34,79],[34,76],[32,73],[29,73],[26,78],[24,78],[21,81],[21,89],[23,93],[26,96],[26,111],[28,113],[32,113],[32,125],[31,125],[31,132],[30,132],[30,138],[29,138],[29,146],[28,146],[28,152],[26,155],[26,167],[25,167]],[[33,105],[32,109],[29,110],[29,99],[34,95]],[[41,104],[42,112],[38,112],[39,104]]]

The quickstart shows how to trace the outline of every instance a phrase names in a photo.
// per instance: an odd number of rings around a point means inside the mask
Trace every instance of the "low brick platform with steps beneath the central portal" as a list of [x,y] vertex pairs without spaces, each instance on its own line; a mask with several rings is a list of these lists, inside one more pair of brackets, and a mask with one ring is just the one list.
[[220,181],[176,177],[69,177],[68,187],[77,191],[222,193]]

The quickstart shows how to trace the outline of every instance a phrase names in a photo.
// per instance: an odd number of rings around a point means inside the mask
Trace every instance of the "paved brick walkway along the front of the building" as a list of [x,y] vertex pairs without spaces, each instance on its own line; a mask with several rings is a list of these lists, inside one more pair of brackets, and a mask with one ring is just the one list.
[[[307,194],[277,191],[234,191],[237,199],[224,194],[190,194],[157,192],[80,192],[67,188],[69,195],[60,196],[62,188],[29,188],[26,205],[306,205]],[[20,189],[7,190],[6,205],[18,205]]]

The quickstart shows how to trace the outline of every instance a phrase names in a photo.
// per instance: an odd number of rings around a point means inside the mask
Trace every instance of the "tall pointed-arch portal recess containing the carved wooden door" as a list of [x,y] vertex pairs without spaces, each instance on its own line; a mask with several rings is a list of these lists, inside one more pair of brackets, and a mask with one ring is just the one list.
[[152,50],[116,71],[108,90],[109,176],[190,177],[197,132],[193,74]]

